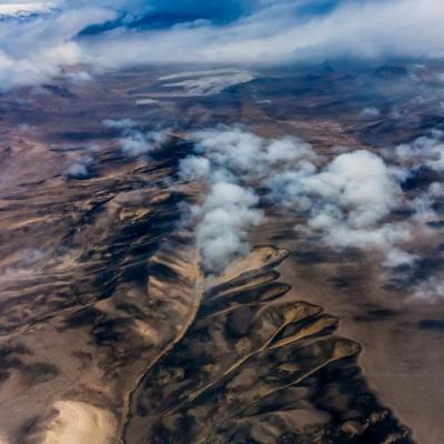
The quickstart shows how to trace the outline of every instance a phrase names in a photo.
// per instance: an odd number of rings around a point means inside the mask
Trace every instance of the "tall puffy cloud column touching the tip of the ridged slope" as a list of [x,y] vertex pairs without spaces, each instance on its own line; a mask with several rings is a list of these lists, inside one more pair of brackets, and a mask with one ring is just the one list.
[[271,168],[315,160],[311,145],[296,138],[264,139],[241,128],[220,127],[189,134],[194,154],[180,163],[180,178],[200,180],[209,193],[191,209],[208,272],[218,273],[249,250],[248,233],[263,222],[260,199],[249,185]]

